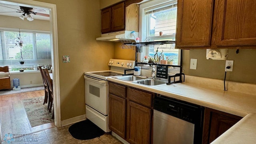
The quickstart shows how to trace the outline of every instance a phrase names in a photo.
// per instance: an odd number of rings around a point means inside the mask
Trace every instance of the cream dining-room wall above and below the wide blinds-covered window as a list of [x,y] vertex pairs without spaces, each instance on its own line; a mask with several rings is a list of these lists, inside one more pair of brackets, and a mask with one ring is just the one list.
[[[0,27],[2,28],[20,28],[27,30],[50,31],[50,22],[46,20],[21,20],[18,17],[0,15]],[[1,76],[2,74],[0,74]],[[20,79],[20,87],[42,86],[43,80],[40,71],[37,72],[10,72],[11,86],[12,79]]]

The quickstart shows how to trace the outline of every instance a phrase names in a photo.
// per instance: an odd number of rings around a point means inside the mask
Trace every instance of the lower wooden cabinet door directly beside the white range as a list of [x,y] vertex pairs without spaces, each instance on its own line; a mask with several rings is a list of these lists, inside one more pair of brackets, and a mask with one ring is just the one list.
[[113,94],[109,94],[108,126],[116,134],[125,138],[125,114],[126,100]]

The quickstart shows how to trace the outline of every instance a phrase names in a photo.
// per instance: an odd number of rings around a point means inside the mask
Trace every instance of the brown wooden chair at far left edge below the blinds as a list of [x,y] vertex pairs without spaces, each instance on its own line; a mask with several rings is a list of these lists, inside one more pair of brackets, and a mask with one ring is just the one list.
[[11,89],[9,66],[0,67],[0,73],[5,73],[5,72],[8,72],[8,76],[0,77],[0,90]]

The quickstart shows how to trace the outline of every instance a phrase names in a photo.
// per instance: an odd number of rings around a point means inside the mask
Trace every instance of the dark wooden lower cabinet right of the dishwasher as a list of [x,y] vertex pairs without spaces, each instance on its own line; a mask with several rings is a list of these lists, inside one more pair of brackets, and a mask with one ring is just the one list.
[[240,116],[206,108],[202,143],[210,144],[241,119],[242,117]]

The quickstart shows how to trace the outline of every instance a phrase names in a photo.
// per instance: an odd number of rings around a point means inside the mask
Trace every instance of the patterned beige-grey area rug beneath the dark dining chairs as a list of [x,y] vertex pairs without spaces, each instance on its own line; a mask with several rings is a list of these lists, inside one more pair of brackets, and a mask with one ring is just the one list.
[[[52,112],[48,112],[44,96],[22,100],[31,127],[54,122]],[[53,108],[52,108],[53,110]]]

